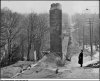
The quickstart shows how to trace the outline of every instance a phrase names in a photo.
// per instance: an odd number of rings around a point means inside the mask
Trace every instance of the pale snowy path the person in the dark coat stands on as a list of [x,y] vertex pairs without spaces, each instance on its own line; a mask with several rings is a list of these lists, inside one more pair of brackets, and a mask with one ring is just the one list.
[[[90,60],[89,57],[84,57],[83,62]],[[71,69],[71,72],[63,72],[61,78],[66,79],[99,79],[99,68],[81,68],[78,64],[78,55],[72,57],[71,63],[67,65],[67,68]]]

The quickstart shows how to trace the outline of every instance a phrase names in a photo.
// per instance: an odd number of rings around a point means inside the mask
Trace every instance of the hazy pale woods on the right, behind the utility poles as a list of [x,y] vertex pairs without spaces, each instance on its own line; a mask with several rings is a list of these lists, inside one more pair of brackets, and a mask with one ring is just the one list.
[[[84,45],[90,45],[90,25],[92,29],[92,43],[97,48],[99,46],[99,14],[75,14],[72,16],[74,23],[75,39],[82,46],[83,39]],[[84,31],[83,31],[84,30]],[[83,36],[84,35],[84,36]],[[83,38],[84,37],[84,38]]]

